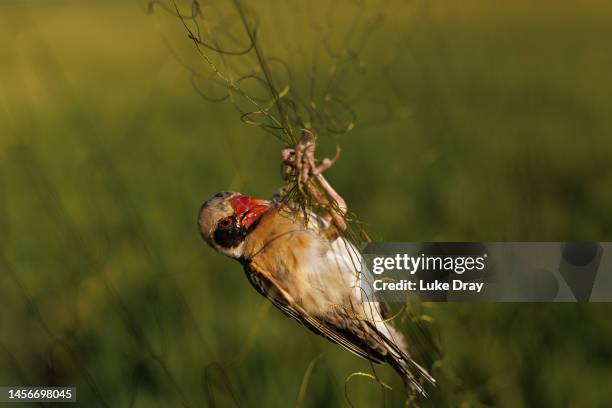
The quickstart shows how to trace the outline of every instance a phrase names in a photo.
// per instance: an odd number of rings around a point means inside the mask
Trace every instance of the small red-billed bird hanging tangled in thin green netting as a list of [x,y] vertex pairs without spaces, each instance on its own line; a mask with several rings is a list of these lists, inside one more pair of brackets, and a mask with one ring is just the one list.
[[421,379],[435,379],[412,359],[402,333],[386,320],[386,306],[364,293],[359,251],[342,236],[346,225],[333,214],[346,211],[346,204],[320,171],[334,160],[324,160],[318,171],[313,146],[310,141],[285,149],[283,162],[300,172],[307,167],[304,180],[318,180],[334,200],[331,214],[303,211],[278,195],[256,199],[222,191],[201,205],[200,235],[237,260],[256,291],[286,316],[362,358],[388,363],[410,391],[426,395]]

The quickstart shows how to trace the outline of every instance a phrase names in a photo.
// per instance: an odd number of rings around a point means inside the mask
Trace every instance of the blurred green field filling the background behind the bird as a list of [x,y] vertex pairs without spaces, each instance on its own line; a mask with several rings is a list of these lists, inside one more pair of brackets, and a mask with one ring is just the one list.
[[[374,239],[611,240],[612,7],[396,6],[378,5],[387,42],[367,56],[396,47],[387,74],[409,114],[358,119],[328,146],[343,148],[329,178]],[[202,100],[162,38],[190,46],[180,23],[145,11],[0,4],[0,385],[76,385],[86,407],[403,406],[390,369],[376,370],[384,395],[346,385],[370,365],[201,241],[209,196],[280,186],[282,145]],[[274,47],[292,22],[263,15]],[[609,305],[424,308],[444,364],[419,405],[612,406]]]

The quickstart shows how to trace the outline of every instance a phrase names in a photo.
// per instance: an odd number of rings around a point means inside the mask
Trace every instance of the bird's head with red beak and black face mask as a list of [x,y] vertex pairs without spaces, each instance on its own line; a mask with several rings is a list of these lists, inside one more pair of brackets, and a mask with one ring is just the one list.
[[241,258],[244,240],[271,206],[269,201],[232,191],[217,193],[200,207],[200,235],[218,252]]

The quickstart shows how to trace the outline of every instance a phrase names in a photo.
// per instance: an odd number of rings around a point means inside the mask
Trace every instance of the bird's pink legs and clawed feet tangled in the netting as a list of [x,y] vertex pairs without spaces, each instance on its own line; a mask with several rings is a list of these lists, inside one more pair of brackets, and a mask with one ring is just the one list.
[[[325,231],[325,235],[329,240],[333,241],[337,238],[339,232],[347,228],[346,221],[344,220],[347,206],[346,201],[344,201],[340,194],[338,194],[325,177],[323,177],[323,172],[333,166],[336,160],[338,160],[340,157],[340,148],[336,149],[336,155],[332,159],[325,158],[321,161],[321,164],[317,166],[315,161],[315,137],[312,132],[305,129],[303,130],[303,134],[302,140],[300,140],[295,148],[287,148],[281,151],[281,158],[285,165],[297,170],[299,181],[306,186],[312,198],[327,211],[327,216],[325,218],[328,219],[335,228],[328,228],[328,230]],[[320,189],[317,188],[314,183],[309,182],[311,176],[314,176]],[[327,195],[327,197],[325,195]]]

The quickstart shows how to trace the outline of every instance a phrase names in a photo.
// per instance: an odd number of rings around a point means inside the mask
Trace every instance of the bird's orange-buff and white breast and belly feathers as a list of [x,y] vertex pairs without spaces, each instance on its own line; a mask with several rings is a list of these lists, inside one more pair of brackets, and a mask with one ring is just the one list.
[[357,249],[343,238],[325,240],[324,226],[320,219],[305,226],[299,214],[270,211],[245,242],[253,273],[265,275],[313,314],[360,297]]

